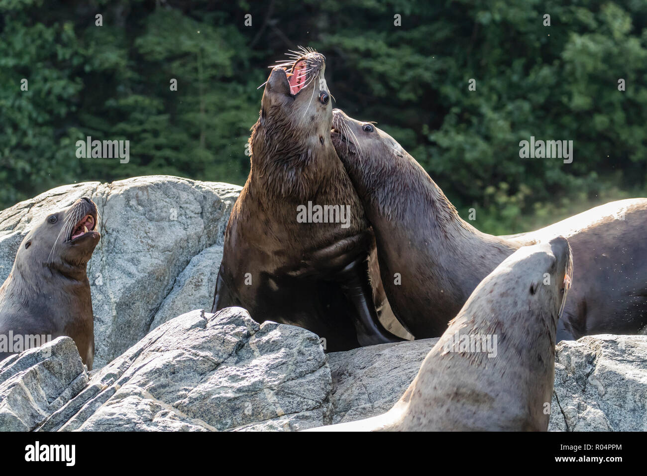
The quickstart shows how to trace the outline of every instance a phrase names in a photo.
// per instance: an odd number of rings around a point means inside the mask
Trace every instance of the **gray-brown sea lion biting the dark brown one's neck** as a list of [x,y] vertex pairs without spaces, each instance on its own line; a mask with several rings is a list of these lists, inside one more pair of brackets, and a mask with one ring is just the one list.
[[331,137],[373,226],[391,308],[417,339],[441,335],[476,285],[521,245],[557,235],[568,238],[575,261],[558,341],[638,334],[647,325],[647,199],[505,239],[461,220],[415,159],[373,124],[335,109]]

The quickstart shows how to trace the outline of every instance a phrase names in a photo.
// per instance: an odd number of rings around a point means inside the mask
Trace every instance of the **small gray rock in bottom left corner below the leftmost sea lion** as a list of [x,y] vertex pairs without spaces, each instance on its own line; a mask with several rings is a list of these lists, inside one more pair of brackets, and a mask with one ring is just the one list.
[[0,431],[31,431],[87,385],[74,341],[58,337],[0,362]]

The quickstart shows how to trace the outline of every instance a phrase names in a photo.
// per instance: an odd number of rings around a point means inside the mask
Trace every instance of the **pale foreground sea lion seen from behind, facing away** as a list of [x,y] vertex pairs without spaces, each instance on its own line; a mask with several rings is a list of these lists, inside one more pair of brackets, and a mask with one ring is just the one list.
[[474,289],[387,413],[316,431],[546,431],[567,240],[521,247]]

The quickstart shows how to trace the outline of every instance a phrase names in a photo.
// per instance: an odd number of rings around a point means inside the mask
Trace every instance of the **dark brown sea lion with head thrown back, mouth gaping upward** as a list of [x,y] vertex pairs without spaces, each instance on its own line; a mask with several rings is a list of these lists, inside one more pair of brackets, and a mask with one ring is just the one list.
[[373,304],[373,236],[334,152],[324,73],[324,56],[306,49],[270,73],[212,312],[241,306],[259,323],[302,326],[325,339],[326,350],[399,341]]

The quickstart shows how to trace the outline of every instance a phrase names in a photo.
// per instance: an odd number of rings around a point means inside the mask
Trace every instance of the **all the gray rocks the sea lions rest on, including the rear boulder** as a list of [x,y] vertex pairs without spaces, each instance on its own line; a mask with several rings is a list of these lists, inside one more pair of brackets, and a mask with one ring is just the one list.
[[[0,282],[32,221],[82,196],[104,217],[88,266],[95,372],[67,337],[8,357],[0,430],[291,431],[399,400],[435,339],[325,355],[302,328],[259,325],[240,308],[199,310],[211,308],[239,190],[137,177],[55,188],[0,212]],[[647,430],[647,336],[558,344],[549,429]]]

